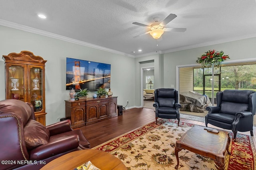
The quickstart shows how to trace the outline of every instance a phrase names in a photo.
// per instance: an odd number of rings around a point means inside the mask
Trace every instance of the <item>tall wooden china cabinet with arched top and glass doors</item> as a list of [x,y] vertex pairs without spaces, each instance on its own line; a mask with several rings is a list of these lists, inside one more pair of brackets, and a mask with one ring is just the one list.
[[3,55],[6,99],[22,100],[34,106],[36,121],[45,125],[45,63],[30,51]]

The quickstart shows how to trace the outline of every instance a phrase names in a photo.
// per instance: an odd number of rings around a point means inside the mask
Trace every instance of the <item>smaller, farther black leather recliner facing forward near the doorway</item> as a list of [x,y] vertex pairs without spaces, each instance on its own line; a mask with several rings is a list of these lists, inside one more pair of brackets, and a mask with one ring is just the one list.
[[156,108],[156,123],[157,118],[164,119],[178,119],[178,126],[180,123],[180,113],[178,104],[178,91],[174,88],[158,88],[154,92],[155,102],[153,106]]

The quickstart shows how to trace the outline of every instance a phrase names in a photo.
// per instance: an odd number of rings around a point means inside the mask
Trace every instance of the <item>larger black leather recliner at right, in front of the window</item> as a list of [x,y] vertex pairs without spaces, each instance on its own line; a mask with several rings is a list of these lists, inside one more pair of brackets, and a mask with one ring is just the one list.
[[205,125],[210,123],[232,130],[234,141],[237,131],[250,131],[253,136],[253,116],[256,112],[256,92],[252,90],[224,90],[216,94],[217,106],[208,106]]

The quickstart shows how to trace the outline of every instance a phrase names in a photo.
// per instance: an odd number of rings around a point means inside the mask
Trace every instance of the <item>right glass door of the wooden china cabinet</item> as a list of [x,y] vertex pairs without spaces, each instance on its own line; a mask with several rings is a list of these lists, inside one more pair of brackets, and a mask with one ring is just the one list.
[[28,66],[28,102],[34,106],[34,111],[42,111],[44,108],[43,74],[42,67]]

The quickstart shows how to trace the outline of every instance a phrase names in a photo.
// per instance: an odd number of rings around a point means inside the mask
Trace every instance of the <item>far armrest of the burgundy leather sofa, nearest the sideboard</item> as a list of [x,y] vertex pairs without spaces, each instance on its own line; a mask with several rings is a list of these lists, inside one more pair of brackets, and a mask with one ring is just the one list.
[[60,122],[54,123],[52,125],[48,125],[48,126],[46,126],[46,128],[50,131],[50,136],[73,130],[71,128],[70,119],[60,121]]

